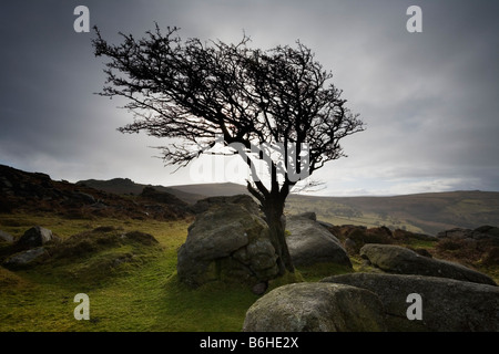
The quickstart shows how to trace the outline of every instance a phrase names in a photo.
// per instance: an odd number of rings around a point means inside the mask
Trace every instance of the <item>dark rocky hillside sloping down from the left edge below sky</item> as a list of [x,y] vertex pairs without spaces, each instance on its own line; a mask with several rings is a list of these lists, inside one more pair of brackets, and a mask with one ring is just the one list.
[[187,204],[154,188],[119,196],[86,185],[52,180],[49,175],[0,165],[0,212],[50,212],[69,218],[183,218]]

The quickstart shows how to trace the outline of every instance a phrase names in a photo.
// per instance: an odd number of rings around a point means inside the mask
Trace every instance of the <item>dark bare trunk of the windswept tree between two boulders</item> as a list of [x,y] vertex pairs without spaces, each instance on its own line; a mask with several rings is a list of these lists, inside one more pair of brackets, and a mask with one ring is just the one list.
[[271,231],[272,244],[278,256],[277,264],[279,267],[279,273],[281,275],[286,271],[294,273],[295,268],[287,248],[285,226],[283,222],[284,201],[266,200],[263,206],[263,211]]

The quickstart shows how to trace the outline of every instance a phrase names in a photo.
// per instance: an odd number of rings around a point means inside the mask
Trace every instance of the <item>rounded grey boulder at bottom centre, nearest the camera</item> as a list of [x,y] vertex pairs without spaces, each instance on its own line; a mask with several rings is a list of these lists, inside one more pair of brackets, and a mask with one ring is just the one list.
[[370,291],[332,283],[284,285],[246,312],[245,332],[385,331],[381,302]]

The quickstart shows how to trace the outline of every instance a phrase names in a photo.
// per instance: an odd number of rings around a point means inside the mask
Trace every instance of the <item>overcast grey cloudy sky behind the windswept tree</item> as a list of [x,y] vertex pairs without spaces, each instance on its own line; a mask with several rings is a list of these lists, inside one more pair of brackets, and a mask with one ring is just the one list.
[[[124,101],[95,94],[105,59],[93,54],[93,30],[74,30],[78,6],[112,43],[157,22],[184,39],[236,43],[245,33],[253,48],[310,48],[366,124],[342,140],[348,157],[314,173],[323,185],[310,195],[499,191],[497,0],[2,1],[2,165],[73,183],[242,181],[227,162],[173,173],[153,148],[167,140],[116,131],[133,115]],[[421,32],[408,31],[410,6],[421,10]]]

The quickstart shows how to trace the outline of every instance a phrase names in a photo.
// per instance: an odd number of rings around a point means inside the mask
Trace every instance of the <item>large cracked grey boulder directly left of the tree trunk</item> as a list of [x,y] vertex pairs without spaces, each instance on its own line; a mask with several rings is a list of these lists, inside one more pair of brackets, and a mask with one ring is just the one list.
[[[278,274],[269,230],[253,200],[211,202],[189,227],[177,252],[181,281],[198,287],[213,280],[254,285]],[[251,204],[251,202],[253,204]]]

